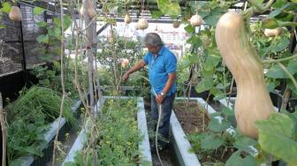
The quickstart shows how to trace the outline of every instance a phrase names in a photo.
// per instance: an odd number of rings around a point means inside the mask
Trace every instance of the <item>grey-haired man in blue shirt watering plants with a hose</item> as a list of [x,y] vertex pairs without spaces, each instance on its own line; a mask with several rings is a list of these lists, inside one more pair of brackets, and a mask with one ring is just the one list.
[[[177,58],[164,46],[160,36],[156,33],[148,33],[143,42],[148,48],[148,52],[140,62],[124,74],[123,79],[128,79],[131,73],[148,65],[148,78],[151,85],[151,117],[157,121],[159,117],[158,105],[161,105],[162,115],[158,132],[168,140],[171,110],[177,91]],[[163,139],[158,140],[158,142],[160,149],[164,149],[168,145],[168,141]]]

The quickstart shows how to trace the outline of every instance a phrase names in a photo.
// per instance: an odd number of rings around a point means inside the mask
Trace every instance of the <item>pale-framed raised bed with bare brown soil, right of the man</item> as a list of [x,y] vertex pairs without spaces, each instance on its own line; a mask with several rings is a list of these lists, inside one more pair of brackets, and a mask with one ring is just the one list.
[[[185,103],[182,103],[180,101],[185,101]],[[189,102],[187,103],[187,101]],[[179,98],[178,97],[176,98],[175,104],[176,103],[182,103],[182,104],[179,105],[178,107],[174,106],[174,111],[172,111],[171,142],[179,158],[179,164],[180,165],[201,165],[197,155],[189,152],[189,150],[193,149],[193,147],[190,144],[189,140],[187,140],[188,138],[187,135],[193,134],[195,132],[202,132],[204,130],[203,128],[209,122],[210,115],[216,113],[217,111],[215,109],[212,109],[212,107],[207,102],[205,102],[202,98]],[[204,110],[204,112],[199,110]],[[215,118],[217,119],[218,123],[220,123],[223,119],[223,117],[219,117],[219,116]],[[203,126],[203,124],[205,126]],[[186,133],[184,131],[186,131]],[[233,128],[229,128],[227,129],[227,131],[232,134]],[[206,158],[202,158],[201,160],[202,162],[207,161]]]

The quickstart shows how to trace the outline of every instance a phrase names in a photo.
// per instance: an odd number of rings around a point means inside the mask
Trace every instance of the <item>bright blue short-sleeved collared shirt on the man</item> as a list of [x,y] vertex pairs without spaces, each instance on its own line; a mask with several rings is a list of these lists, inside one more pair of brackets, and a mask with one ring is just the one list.
[[[163,46],[159,50],[156,58],[154,54],[147,52],[143,57],[143,61],[148,65],[148,78],[152,87],[151,93],[154,95],[160,94],[169,78],[168,74],[176,72],[177,70],[177,58],[169,49]],[[156,91],[156,94],[153,89]],[[175,93],[176,91],[177,85],[176,80],[174,80],[167,95]]]

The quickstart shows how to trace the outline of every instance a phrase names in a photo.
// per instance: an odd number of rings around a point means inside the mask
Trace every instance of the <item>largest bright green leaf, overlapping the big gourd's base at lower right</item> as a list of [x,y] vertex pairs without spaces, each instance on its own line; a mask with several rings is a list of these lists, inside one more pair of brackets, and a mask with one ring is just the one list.
[[268,120],[255,121],[255,125],[263,150],[289,165],[297,165],[297,142],[293,140],[293,120],[290,117],[272,112]]

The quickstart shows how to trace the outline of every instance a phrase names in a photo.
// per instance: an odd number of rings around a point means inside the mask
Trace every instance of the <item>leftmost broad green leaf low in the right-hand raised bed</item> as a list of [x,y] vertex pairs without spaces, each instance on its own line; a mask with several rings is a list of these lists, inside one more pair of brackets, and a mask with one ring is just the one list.
[[202,148],[203,149],[217,149],[218,147],[221,147],[224,144],[224,140],[222,140],[219,137],[213,136],[213,135],[207,135],[202,140]]

